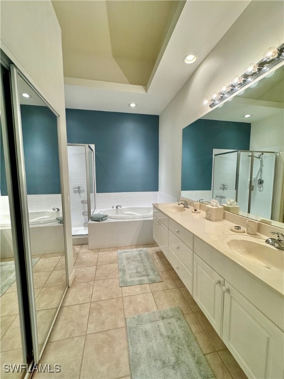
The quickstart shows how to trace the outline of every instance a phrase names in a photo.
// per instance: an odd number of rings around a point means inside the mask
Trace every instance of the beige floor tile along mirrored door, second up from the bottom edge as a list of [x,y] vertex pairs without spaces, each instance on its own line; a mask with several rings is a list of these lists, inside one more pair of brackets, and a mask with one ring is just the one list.
[[85,335],[89,310],[90,303],[61,307],[48,341]]

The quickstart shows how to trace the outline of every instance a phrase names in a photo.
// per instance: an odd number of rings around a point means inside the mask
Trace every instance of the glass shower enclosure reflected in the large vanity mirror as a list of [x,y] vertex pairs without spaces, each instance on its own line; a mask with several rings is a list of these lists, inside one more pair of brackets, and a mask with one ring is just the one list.
[[226,203],[226,198],[233,198],[241,211],[276,220],[274,202],[278,158],[279,152],[215,154],[213,198],[220,203]]

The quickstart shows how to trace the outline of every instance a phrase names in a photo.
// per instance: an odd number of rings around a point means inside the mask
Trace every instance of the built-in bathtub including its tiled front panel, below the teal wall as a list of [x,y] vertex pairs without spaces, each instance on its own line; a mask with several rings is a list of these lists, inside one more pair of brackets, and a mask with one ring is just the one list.
[[153,208],[123,207],[96,210],[102,222],[89,221],[89,249],[153,244]]

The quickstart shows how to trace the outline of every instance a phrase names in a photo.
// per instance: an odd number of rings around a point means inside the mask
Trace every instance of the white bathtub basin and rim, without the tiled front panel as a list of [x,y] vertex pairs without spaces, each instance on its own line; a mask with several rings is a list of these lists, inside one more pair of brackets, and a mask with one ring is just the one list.
[[122,219],[122,220],[133,220],[139,219],[144,220],[153,216],[152,207],[123,207],[123,208],[109,208],[100,211],[100,213],[106,214],[108,219]]

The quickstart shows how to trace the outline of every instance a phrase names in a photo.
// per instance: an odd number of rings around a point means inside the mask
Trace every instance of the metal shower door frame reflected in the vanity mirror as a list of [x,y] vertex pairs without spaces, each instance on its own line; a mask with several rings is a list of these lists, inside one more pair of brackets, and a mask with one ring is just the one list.
[[249,174],[249,202],[248,202],[248,210],[247,210],[248,213],[250,213],[251,192],[253,191],[252,175],[253,175],[253,163],[254,163],[254,159],[253,158],[254,158],[254,153],[261,153],[262,152],[262,153],[275,154],[274,176],[273,176],[273,189],[272,189],[271,212],[270,212],[270,218],[272,219],[272,217],[273,217],[273,210],[274,210],[275,180],[276,180],[276,172],[277,172],[279,152],[266,152],[266,151],[258,151],[258,150],[238,150],[237,173],[236,173],[236,201],[238,201],[241,152],[251,153],[250,174]]

